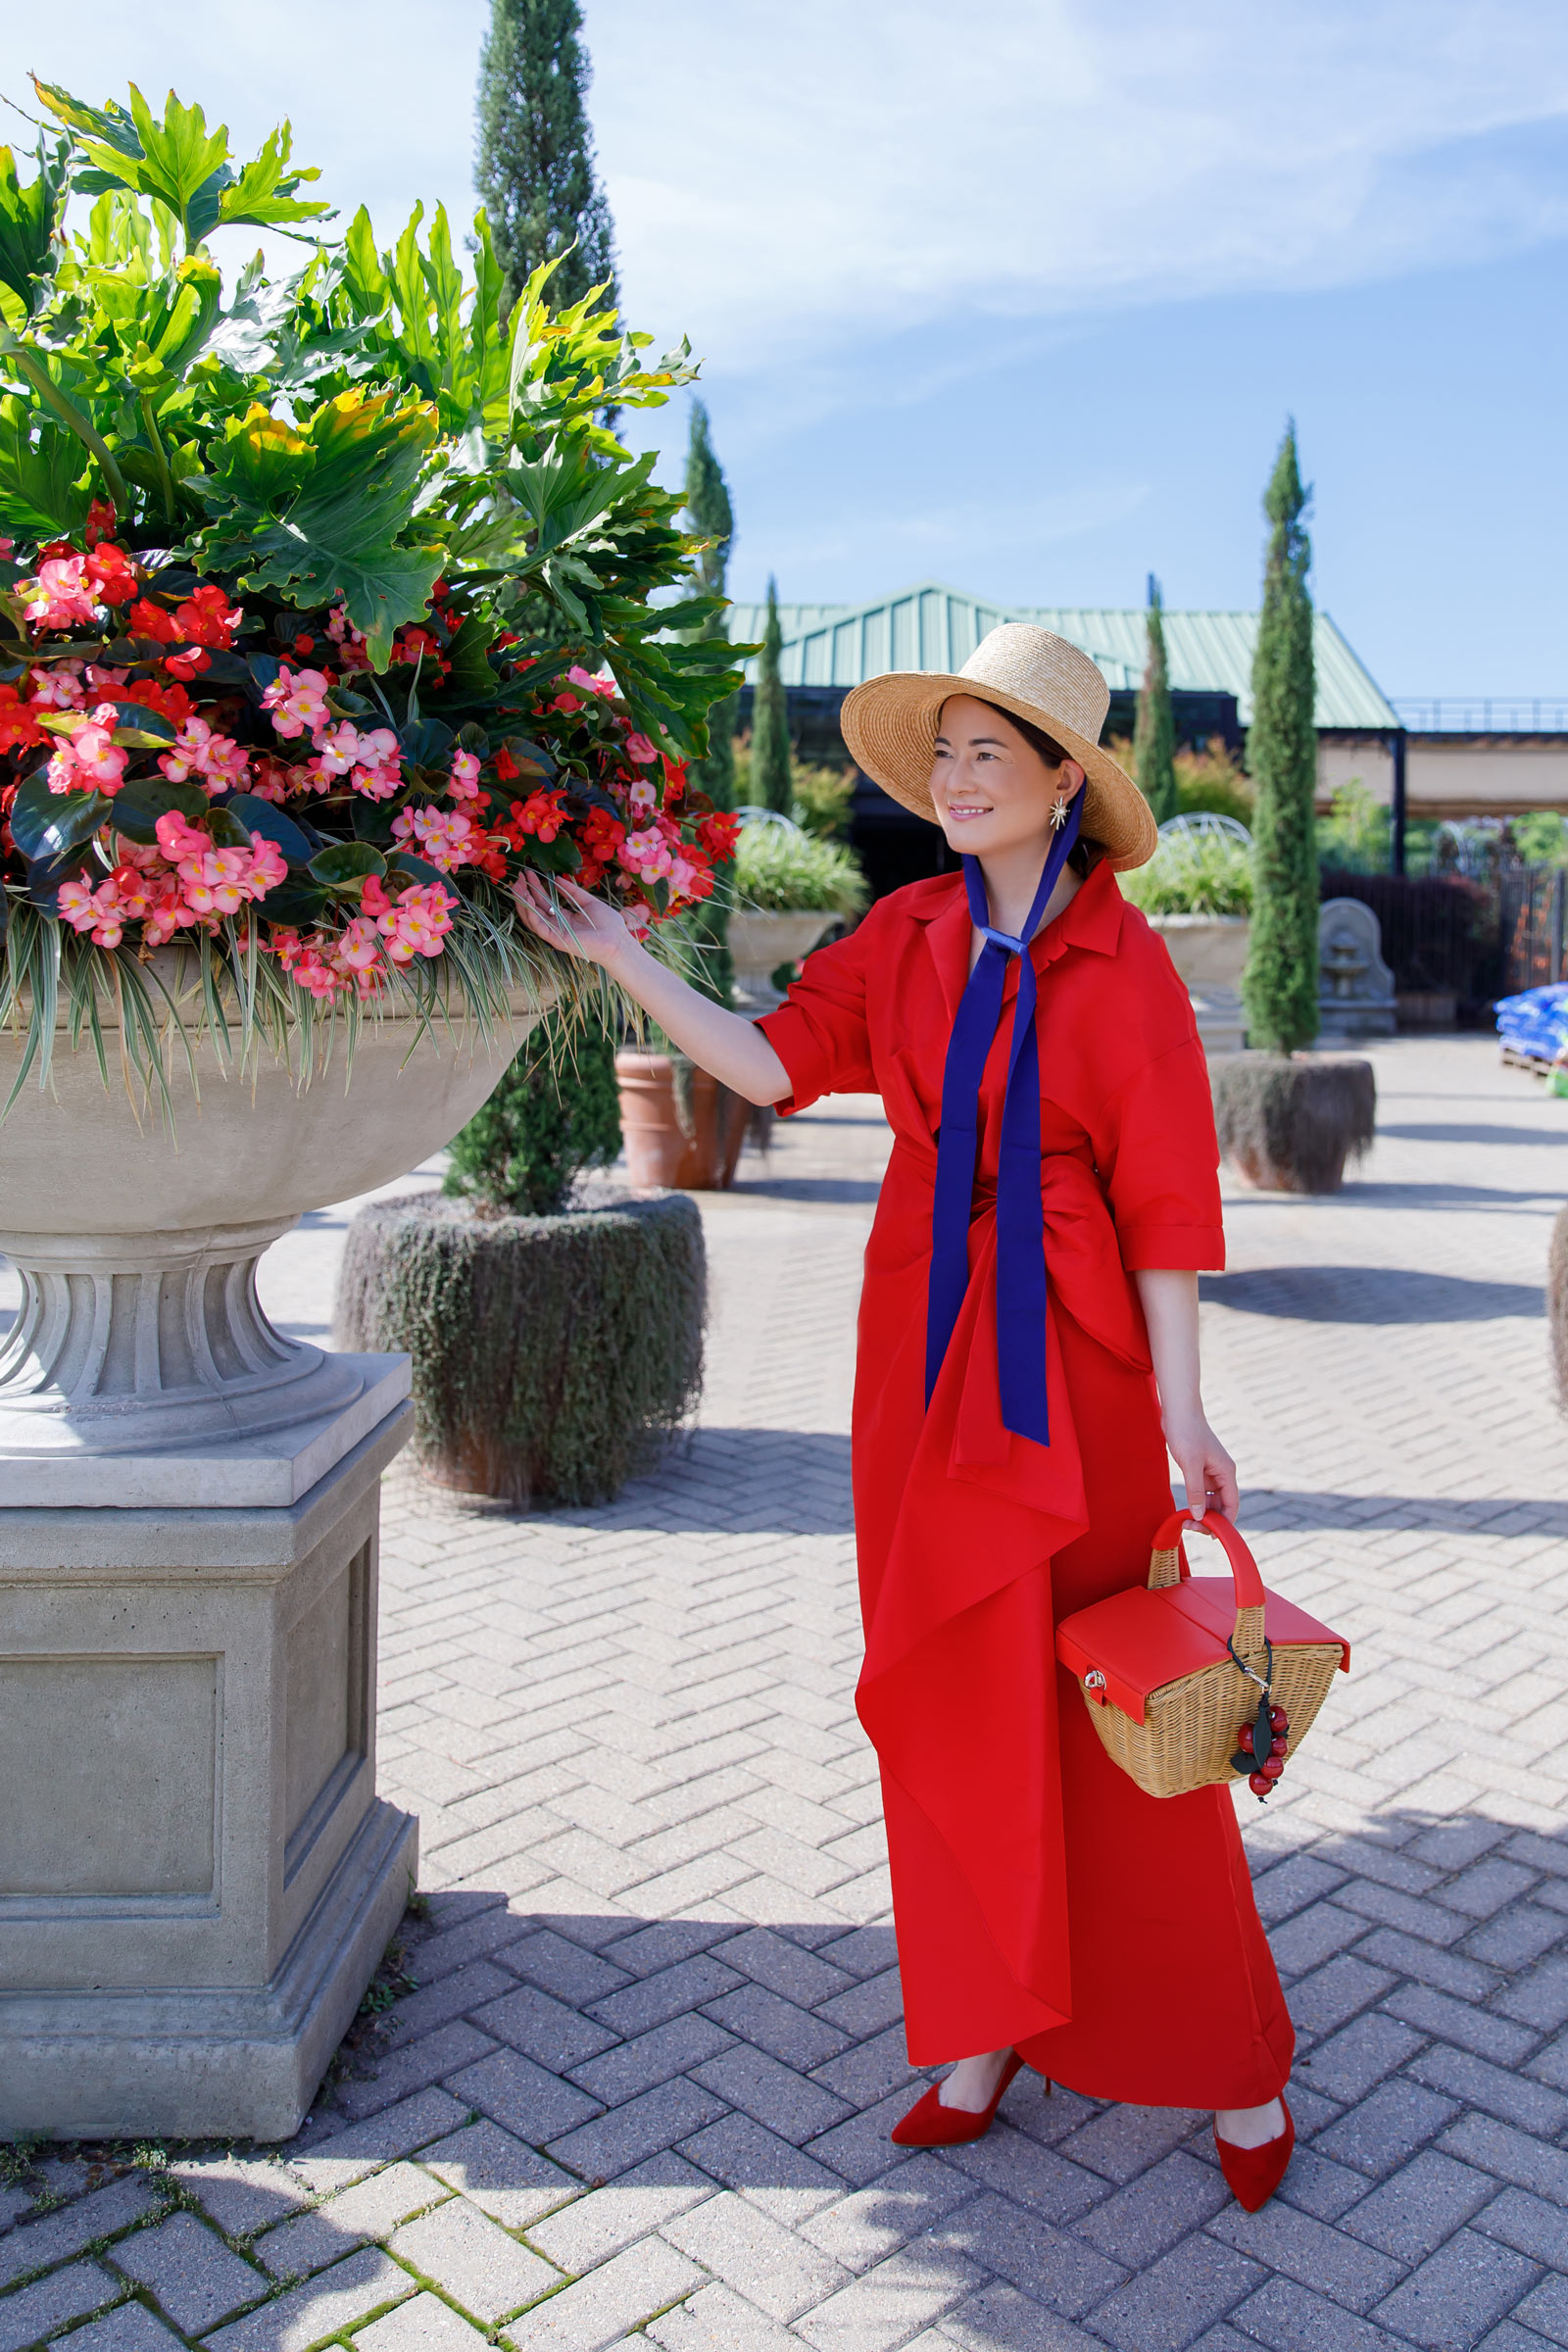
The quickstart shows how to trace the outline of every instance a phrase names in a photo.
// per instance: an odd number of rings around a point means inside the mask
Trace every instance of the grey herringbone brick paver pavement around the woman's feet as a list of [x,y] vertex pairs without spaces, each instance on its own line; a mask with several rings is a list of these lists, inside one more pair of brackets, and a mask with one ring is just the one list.
[[[428,1889],[395,1999],[280,2152],[61,2152],[31,2218],[38,2178],[0,2185],[0,2352],[1568,2345],[1540,1298],[1568,1105],[1483,1040],[1375,1061],[1359,1181],[1232,1188],[1204,1282],[1244,1526],[1356,1644],[1281,1795],[1241,1799],[1300,2030],[1302,2150],[1265,2213],[1227,2199],[1206,2117],[1032,2077],[971,2150],[889,2145],[917,2084],[846,1439],[886,1136],[839,1101],[705,1202],[708,1395],[658,1477],[550,1517],[390,1482],[383,1785]],[[339,1223],[270,1272],[301,1324]]]

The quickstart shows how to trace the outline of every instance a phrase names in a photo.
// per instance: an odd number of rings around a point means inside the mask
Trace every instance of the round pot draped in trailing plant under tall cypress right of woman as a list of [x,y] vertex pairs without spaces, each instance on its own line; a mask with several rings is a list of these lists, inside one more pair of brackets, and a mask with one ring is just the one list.
[[1338,1192],[1345,1162],[1371,1148],[1371,1061],[1237,1054],[1213,1073],[1220,1150],[1265,1192]]

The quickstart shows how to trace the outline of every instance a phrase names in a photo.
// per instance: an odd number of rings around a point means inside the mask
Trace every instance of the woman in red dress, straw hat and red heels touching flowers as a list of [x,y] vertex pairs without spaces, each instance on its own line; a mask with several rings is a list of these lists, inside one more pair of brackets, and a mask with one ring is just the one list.
[[757,1023],[569,884],[569,929],[538,880],[524,913],[752,1103],[875,1091],[893,1127],[853,1414],[858,1710],[910,2063],[957,2060],[893,2138],[978,2138],[1027,2063],[1213,2107],[1255,2211],[1291,2157],[1293,2034],[1229,1792],[1145,1797],[1053,1651],[1058,1616],[1147,1576],[1166,1449],[1194,1517],[1237,1508],[1199,1397],[1197,1268],[1225,1256],[1208,1080],[1114,882],[1154,821],[1098,748],[1105,710],[1084,652],[1016,623],[957,675],[856,687],[860,769],[964,873],[882,898]]

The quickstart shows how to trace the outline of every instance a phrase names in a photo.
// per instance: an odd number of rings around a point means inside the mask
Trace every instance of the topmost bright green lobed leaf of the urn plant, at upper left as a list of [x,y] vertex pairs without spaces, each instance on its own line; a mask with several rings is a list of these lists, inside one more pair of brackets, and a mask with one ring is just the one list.
[[320,172],[287,172],[289,125],[270,132],[261,155],[235,176],[228,155],[228,125],[207,129],[200,106],[181,106],[169,92],[162,122],[129,85],[129,113],[122,106],[82,106],[56,82],[40,82],[33,89],[42,106],[78,134],[78,146],[87,158],[87,172],[78,172],[78,188],[99,195],[108,188],[132,188],[167,205],[186,230],[186,245],[200,245],[214,228],[247,226],[268,228],[284,221],[308,221],[329,212],[329,205],[308,205],[294,198],[306,179]]

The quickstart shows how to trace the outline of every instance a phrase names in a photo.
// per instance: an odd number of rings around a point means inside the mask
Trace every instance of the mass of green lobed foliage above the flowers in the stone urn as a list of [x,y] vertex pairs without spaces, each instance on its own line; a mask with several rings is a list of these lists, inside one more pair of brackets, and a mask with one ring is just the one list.
[[[569,0],[505,14],[529,40],[576,24]],[[682,499],[602,423],[689,383],[684,348],[649,365],[611,303],[559,299],[564,261],[508,308],[484,216],[465,273],[444,212],[425,228],[418,205],[386,252],[357,212],[294,275],[256,256],[226,287],[209,235],[324,212],[296,195],[315,172],[289,162],[287,122],[240,165],[174,94],[162,120],[136,89],[129,108],[38,94],[66,136],[40,139],[28,181],[0,151],[0,534],[80,534],[108,499],[134,553],[301,612],[341,600],[378,670],[444,576],[482,595],[487,644],[505,628],[536,668],[609,659],[635,727],[705,750],[738,684],[708,633],[719,607],[651,604],[691,579]],[[73,193],[96,202],[68,233]],[[494,706],[480,633],[463,666]]]

